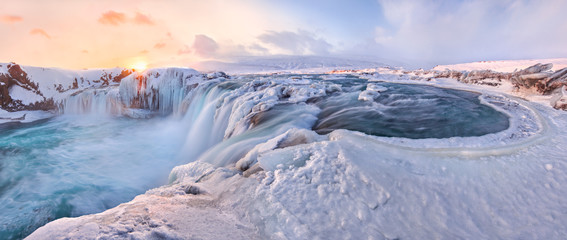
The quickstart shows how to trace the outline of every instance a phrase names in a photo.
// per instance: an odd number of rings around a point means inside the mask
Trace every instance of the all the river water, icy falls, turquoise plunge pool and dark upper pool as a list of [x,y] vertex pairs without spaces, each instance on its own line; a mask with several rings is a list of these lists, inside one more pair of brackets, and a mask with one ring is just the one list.
[[372,84],[319,75],[207,79],[162,69],[76,93],[62,116],[1,131],[0,238],[114,207],[165,184],[176,165],[248,159],[237,164],[246,170],[255,147],[292,129],[444,138],[510,127],[474,93]]

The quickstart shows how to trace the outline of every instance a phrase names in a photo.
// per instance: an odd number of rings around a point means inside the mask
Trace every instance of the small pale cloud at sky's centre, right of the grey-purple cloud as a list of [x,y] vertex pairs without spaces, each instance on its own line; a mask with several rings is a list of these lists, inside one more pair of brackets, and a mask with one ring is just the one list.
[[258,36],[258,39],[265,44],[275,46],[297,55],[326,55],[333,48],[333,46],[324,39],[301,29],[297,32],[268,31]]

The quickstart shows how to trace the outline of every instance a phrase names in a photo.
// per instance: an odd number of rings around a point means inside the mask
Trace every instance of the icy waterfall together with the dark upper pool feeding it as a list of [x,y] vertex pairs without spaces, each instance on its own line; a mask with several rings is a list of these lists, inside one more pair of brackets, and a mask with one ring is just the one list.
[[[481,105],[473,93],[401,84],[378,88],[357,79],[349,84],[366,85],[366,90],[343,89],[340,81],[319,79],[255,76],[231,80],[215,76],[186,69],[135,73],[119,85],[86,89],[70,96],[63,104],[63,112],[173,118],[185,136],[177,161],[182,164],[200,160],[215,166],[234,164],[258,144],[290,129],[314,129],[320,134],[348,129],[419,139],[478,136],[508,128],[508,118]],[[374,88],[383,93],[364,101],[358,99],[362,91]],[[439,103],[433,107],[432,102]],[[455,108],[455,103],[460,106]],[[452,122],[446,123],[443,114],[432,113],[435,109],[468,117],[451,117]],[[407,120],[395,121],[400,118]],[[414,124],[416,119],[423,123]],[[487,131],[486,126],[491,128]],[[516,128],[491,136],[508,139]],[[485,130],[478,134],[479,129]]]

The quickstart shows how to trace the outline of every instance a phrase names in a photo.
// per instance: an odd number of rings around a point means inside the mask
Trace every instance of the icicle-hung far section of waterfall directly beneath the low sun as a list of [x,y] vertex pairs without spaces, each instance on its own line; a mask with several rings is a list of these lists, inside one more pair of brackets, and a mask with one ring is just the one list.
[[148,114],[182,114],[183,101],[191,90],[204,80],[191,69],[151,69],[135,72],[122,79],[118,86],[85,89],[62,103],[66,114],[126,115],[145,117]]

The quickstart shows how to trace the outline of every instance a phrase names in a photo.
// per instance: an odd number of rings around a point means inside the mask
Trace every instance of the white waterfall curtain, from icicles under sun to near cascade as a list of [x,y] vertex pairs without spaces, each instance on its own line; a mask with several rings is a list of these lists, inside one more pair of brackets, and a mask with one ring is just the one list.
[[[180,163],[201,159],[221,166],[235,163],[250,149],[290,128],[310,129],[319,109],[305,104],[326,94],[323,84],[296,80],[205,78],[184,69],[132,74],[120,85],[86,89],[67,98],[64,114],[173,116],[185,133]],[[262,113],[276,105],[291,114],[272,116],[258,126]],[[283,106],[283,105],[282,105]],[[265,116],[264,116],[265,118]]]

